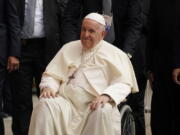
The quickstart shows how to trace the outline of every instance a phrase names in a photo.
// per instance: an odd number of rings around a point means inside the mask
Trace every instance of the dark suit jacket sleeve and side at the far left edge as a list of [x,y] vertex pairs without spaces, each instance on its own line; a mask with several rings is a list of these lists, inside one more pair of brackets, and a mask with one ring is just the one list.
[[19,21],[15,0],[0,1],[0,65],[8,56],[20,56]]

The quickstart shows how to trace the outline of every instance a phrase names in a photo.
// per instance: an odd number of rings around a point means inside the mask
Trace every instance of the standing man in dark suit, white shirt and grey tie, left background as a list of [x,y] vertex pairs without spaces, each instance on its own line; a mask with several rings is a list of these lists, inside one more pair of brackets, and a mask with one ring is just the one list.
[[61,48],[61,0],[16,0],[21,26],[21,59],[11,73],[13,87],[12,130],[27,135],[30,123],[33,79],[39,96],[41,75]]

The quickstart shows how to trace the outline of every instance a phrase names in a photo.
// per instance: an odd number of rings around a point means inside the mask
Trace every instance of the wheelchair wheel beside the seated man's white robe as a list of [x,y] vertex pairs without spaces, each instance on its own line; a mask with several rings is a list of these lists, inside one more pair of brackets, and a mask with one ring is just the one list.
[[120,107],[121,114],[121,135],[135,135],[135,121],[132,110],[128,105]]

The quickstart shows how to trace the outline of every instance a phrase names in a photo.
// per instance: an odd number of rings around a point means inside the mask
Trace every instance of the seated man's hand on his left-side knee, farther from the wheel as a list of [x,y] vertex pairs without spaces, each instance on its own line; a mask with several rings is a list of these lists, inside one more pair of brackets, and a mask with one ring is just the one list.
[[58,94],[50,88],[44,88],[39,98],[55,98]]

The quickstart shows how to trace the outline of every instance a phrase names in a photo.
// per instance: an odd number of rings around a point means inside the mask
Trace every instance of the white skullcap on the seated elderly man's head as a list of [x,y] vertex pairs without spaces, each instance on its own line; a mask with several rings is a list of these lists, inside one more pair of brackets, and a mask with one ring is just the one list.
[[106,25],[104,17],[98,13],[90,13],[84,17],[85,19],[91,19],[94,20],[102,25]]

